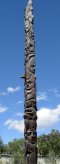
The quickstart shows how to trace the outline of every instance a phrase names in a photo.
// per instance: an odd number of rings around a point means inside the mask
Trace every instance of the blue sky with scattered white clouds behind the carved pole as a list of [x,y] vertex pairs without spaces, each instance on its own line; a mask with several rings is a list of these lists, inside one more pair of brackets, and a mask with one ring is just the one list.
[[[27,0],[0,0],[0,136],[23,135],[24,8]],[[38,135],[60,130],[60,0],[33,0]]]

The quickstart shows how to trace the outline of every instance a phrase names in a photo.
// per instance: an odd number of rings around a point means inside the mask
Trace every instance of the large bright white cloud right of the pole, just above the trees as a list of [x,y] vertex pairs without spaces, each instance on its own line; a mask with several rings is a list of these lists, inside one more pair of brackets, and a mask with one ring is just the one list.
[[52,127],[60,121],[60,104],[55,109],[41,108],[37,116],[38,130]]

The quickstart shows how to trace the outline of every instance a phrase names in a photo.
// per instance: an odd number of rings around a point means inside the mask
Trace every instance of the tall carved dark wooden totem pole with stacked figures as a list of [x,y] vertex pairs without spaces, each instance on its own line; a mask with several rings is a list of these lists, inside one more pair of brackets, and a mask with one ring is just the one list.
[[25,9],[25,75],[24,78],[24,164],[37,164],[37,106],[35,76],[34,16],[32,0]]

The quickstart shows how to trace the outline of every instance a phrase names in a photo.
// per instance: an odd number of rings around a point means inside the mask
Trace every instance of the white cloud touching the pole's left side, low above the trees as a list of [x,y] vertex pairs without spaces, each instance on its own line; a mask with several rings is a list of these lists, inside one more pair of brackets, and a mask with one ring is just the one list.
[[22,133],[24,132],[24,121],[23,120],[18,121],[18,120],[8,119],[5,122],[5,125],[7,125],[9,129],[15,129]]

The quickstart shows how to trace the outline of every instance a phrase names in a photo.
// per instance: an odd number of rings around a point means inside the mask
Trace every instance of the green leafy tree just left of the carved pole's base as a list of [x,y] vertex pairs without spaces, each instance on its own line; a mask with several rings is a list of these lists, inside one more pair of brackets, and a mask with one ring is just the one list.
[[23,163],[23,155],[24,155],[24,140],[13,140],[9,142],[9,151],[10,154],[14,157],[15,164],[22,164]]

